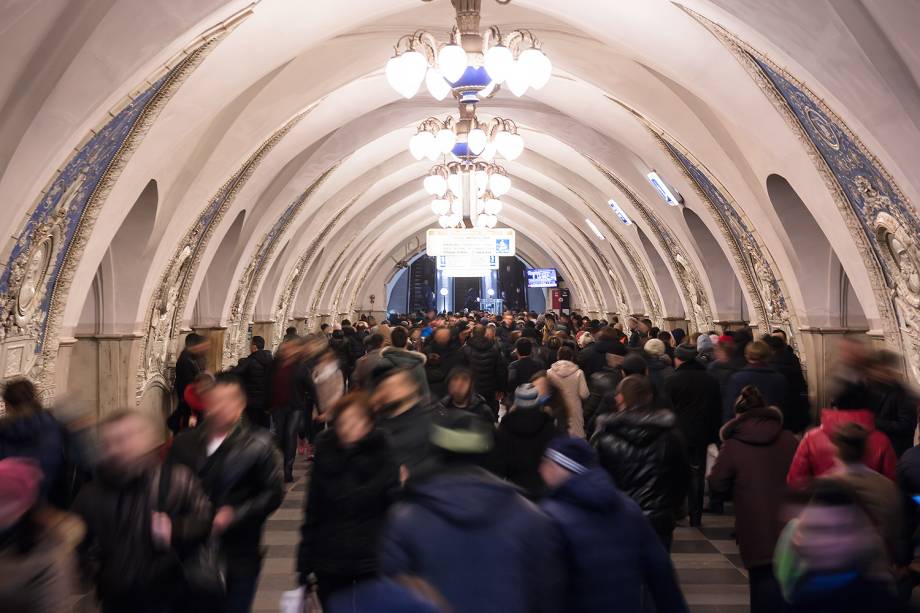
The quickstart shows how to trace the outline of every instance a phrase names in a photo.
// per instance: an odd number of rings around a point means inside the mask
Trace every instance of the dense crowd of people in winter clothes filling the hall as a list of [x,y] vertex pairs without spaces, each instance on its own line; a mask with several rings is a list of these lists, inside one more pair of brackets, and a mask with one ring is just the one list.
[[755,613],[910,606],[918,401],[858,337],[820,411],[782,330],[430,311],[254,336],[223,372],[208,348],[165,424],[6,382],[0,610],[88,585],[105,613],[249,611],[298,454],[326,611],[679,613],[675,529],[727,508]]

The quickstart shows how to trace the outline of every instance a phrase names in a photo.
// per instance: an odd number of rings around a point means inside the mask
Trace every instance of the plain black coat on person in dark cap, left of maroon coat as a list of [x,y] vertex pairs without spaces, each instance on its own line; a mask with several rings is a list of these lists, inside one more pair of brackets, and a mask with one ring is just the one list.
[[719,440],[722,394],[719,382],[702,364],[690,361],[678,366],[665,381],[664,393],[688,449],[705,449]]

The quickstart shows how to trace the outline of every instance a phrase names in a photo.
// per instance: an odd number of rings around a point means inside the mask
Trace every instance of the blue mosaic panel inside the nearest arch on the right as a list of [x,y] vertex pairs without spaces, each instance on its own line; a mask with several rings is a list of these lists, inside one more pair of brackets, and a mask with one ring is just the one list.
[[900,192],[874,160],[864,152],[860,144],[851,138],[848,130],[838,125],[840,120],[829,116],[823,110],[812,92],[791,82],[770,64],[753,54],[748,53],[748,56],[786,101],[796,120],[834,174],[875,251],[886,280],[890,283],[891,271],[886,259],[881,257],[881,247],[871,226],[872,220],[867,214],[866,192],[864,186],[863,189],[860,188],[860,183],[868,180],[879,196],[873,198],[873,211],[886,212],[897,219],[905,220],[905,229],[911,232],[915,239],[920,239],[920,223],[910,205],[902,199]]

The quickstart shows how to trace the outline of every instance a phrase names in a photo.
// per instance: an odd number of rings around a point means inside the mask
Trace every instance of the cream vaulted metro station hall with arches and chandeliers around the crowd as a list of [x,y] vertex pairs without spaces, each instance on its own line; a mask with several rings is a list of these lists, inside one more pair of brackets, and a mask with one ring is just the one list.
[[[253,335],[481,305],[782,330],[814,407],[845,336],[920,382],[916,0],[35,0],[0,23],[0,373],[48,403],[163,418],[189,333],[216,372]],[[451,272],[430,241],[457,229],[514,252]],[[747,610],[713,530],[674,550],[691,610]],[[257,604],[290,587],[266,573]]]

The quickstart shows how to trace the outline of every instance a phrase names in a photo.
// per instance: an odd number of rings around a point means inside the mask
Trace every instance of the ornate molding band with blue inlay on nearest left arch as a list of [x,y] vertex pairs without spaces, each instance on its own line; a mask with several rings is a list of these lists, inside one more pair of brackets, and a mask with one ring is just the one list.
[[53,397],[64,307],[108,195],[173,94],[251,13],[250,5],[199,36],[109,111],[39,196],[20,226],[0,278],[0,341],[6,376],[28,375],[43,397]]

